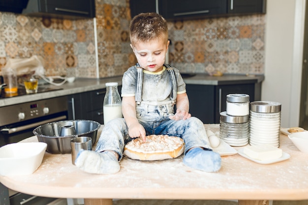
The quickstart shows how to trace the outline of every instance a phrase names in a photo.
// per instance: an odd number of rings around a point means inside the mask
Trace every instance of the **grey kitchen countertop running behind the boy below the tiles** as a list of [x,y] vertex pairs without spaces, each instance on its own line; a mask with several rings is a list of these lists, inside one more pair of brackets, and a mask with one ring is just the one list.
[[[194,76],[184,77],[186,84],[196,85],[231,85],[231,84],[246,84],[246,83],[261,83],[264,80],[263,75],[223,75],[220,77],[209,76],[207,74],[196,74]],[[117,82],[122,85],[122,76],[110,78],[76,78],[73,83],[64,83],[62,86],[42,85],[46,88],[60,88],[55,91],[41,92],[35,94],[27,94],[11,98],[0,99],[0,107],[19,104],[21,102],[31,102],[47,98],[65,96],[80,92],[87,92],[96,89],[106,88],[105,83]]]

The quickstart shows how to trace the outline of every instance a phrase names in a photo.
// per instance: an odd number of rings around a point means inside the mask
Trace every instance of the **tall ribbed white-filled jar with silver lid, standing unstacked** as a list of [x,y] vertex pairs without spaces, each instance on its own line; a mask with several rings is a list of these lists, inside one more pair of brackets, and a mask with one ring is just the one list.
[[250,145],[279,147],[281,104],[270,101],[250,103]]

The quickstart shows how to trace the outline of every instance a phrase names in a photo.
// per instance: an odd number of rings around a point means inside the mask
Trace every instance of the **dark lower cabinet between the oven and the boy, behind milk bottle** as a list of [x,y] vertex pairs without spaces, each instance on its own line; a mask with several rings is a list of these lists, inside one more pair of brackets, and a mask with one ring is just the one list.
[[[118,87],[120,95],[121,88]],[[68,119],[88,119],[104,124],[105,94],[106,88],[68,95]]]

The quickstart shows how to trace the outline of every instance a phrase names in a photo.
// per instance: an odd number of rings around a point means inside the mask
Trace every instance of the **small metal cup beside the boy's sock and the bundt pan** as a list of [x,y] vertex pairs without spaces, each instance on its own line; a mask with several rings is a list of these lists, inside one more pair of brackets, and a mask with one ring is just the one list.
[[92,150],[92,138],[91,137],[76,137],[70,140],[70,146],[72,147],[72,163],[75,165],[75,160],[78,152],[81,149]]

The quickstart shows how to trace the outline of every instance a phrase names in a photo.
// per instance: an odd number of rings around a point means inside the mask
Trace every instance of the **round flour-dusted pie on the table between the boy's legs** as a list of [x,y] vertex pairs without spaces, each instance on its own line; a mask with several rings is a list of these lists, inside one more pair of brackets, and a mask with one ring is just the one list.
[[127,143],[123,154],[130,159],[155,161],[176,158],[184,149],[184,141],[180,137],[149,135],[146,142],[138,137]]

